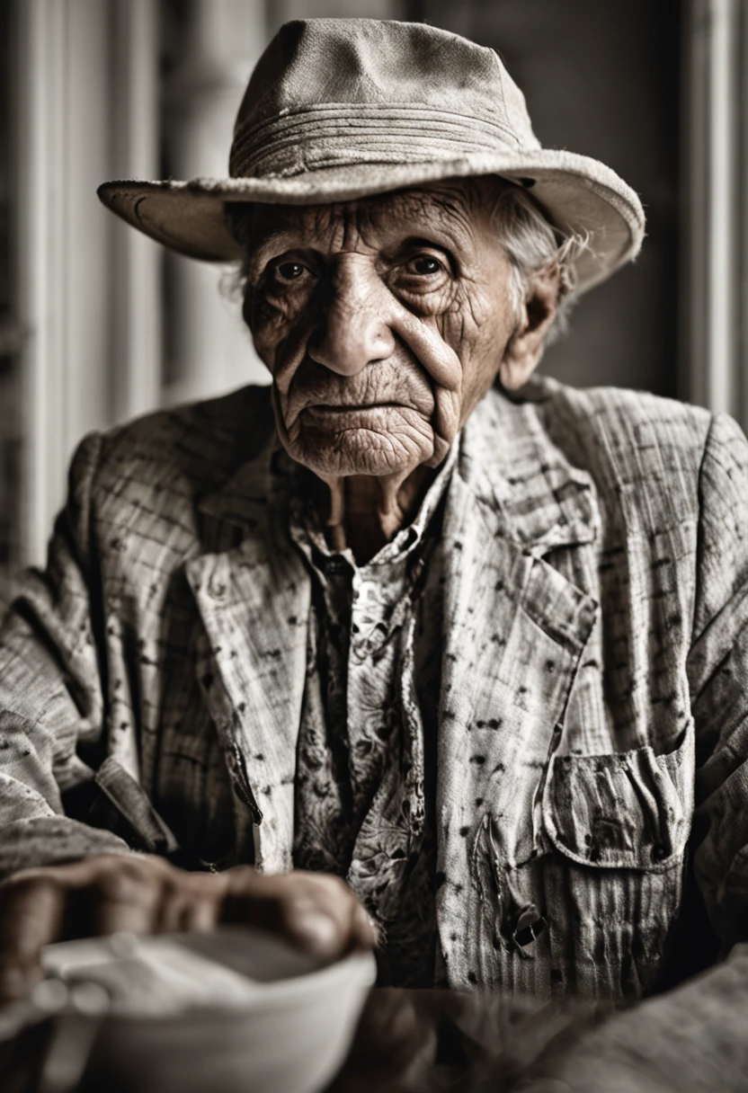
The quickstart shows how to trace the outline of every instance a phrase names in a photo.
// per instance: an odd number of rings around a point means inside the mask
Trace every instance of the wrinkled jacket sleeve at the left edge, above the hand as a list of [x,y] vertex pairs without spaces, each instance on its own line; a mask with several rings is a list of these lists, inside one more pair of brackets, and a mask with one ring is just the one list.
[[46,572],[24,574],[0,627],[0,878],[128,850],[110,832],[67,818],[62,804],[91,780],[81,752],[96,750],[104,727],[89,518],[101,444],[97,435],[81,444]]

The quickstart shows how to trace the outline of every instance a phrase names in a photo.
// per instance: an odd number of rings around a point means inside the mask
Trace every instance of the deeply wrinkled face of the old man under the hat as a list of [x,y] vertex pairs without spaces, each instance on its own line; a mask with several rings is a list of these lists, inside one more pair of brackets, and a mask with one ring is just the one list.
[[501,185],[255,205],[244,315],[299,462],[329,479],[444,458],[513,332]]

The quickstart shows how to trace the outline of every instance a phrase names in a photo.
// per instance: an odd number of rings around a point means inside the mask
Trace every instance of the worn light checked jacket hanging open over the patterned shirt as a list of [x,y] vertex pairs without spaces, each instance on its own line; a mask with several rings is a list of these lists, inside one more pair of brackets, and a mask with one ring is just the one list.
[[[267,389],[87,437],[0,634],[0,867],[291,865],[309,575]],[[638,996],[693,875],[748,932],[748,445],[539,380],[466,425],[444,518],[448,982]],[[691,850],[690,865],[688,850]]]

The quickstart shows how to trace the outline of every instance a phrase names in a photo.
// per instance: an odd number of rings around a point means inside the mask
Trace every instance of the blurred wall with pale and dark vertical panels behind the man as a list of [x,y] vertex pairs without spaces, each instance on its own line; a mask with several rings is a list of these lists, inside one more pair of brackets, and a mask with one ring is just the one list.
[[[548,146],[641,195],[639,261],[544,371],[748,421],[748,0],[0,0],[0,595],[44,559],[84,433],[264,383],[226,271],[97,202],[109,178],[226,174],[285,20],[426,21],[498,49]],[[221,291],[221,282],[224,282]]]

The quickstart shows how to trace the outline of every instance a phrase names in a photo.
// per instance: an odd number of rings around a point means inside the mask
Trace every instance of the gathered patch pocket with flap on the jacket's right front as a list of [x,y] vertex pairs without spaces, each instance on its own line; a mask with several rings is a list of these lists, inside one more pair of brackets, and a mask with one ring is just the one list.
[[665,971],[682,898],[693,732],[652,748],[554,756],[544,792],[551,961],[566,989],[640,997]]

